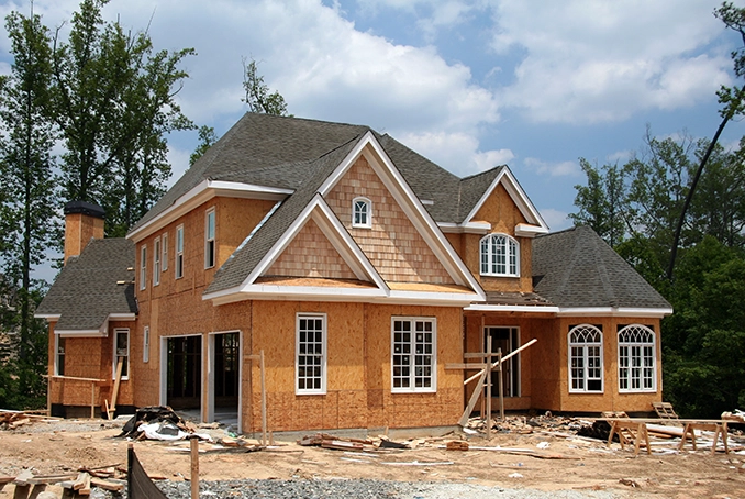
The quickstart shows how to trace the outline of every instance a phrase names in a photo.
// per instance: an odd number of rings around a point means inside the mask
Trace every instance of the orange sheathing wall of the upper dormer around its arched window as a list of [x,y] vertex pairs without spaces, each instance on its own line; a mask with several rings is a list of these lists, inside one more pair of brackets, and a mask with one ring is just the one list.
[[[515,237],[515,225],[527,221],[518,209],[512,198],[501,185],[497,186],[479,211],[474,215],[475,222],[489,222],[492,233],[508,234]],[[466,266],[478,279],[487,291],[533,291],[532,281],[532,240],[530,237],[515,237],[520,244],[520,276],[516,277],[488,277],[480,275],[480,240],[479,234],[464,234],[464,248],[458,252],[464,258]]]

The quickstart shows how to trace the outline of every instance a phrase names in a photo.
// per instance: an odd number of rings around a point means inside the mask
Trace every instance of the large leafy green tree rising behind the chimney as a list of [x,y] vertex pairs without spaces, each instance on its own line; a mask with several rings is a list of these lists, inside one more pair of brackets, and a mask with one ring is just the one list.
[[193,127],[175,96],[191,48],[155,52],[146,32],[105,23],[108,0],[84,0],[69,40],[52,51],[54,115],[66,152],[63,196],[100,203],[107,234],[122,235],[163,195],[166,134]]

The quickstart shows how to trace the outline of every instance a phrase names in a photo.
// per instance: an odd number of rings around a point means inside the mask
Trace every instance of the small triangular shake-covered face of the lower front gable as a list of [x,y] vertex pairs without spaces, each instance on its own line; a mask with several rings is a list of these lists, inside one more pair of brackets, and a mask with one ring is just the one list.
[[356,279],[344,258],[311,219],[296,234],[265,276]]

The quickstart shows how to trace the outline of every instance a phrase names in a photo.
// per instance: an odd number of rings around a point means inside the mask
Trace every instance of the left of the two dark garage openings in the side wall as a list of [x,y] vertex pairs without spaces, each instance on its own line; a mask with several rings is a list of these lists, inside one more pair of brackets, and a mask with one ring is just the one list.
[[174,410],[201,409],[202,336],[168,339],[166,403]]

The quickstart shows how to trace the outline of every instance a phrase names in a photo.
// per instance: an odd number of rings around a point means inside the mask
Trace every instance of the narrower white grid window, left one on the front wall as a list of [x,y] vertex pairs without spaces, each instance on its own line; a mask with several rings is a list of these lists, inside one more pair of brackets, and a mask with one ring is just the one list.
[[298,314],[296,393],[326,392],[326,317]]

